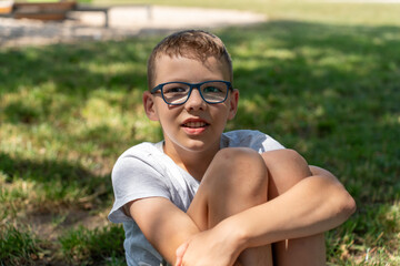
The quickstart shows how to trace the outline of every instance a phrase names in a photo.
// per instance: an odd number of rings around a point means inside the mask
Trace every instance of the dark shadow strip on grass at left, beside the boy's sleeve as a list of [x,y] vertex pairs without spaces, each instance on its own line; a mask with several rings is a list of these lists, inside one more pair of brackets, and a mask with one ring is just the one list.
[[16,158],[0,152],[0,170],[7,183],[16,180],[33,182],[39,192],[37,197],[44,196],[47,203],[42,204],[49,204],[50,207],[52,204],[79,206],[94,200],[110,200],[112,196],[110,175],[94,175],[79,163]]

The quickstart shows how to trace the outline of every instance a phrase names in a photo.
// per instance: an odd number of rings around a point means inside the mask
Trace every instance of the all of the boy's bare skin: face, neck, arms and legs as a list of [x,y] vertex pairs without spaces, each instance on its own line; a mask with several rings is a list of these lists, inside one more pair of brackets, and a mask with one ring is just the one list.
[[[164,55],[158,59],[156,72],[156,84],[229,79],[216,58],[200,62]],[[289,249],[282,244],[272,248],[278,265],[293,265],[293,260],[299,265],[297,259],[306,248],[319,253],[321,234],[343,223],[354,211],[353,200],[333,175],[309,168],[294,152],[283,150],[260,156],[247,149],[232,154],[219,151],[220,136],[227,121],[236,115],[238,99],[239,92],[233,90],[226,102],[207,104],[193,90],[184,104],[170,106],[159,94],[143,93],[148,117],[162,126],[164,153],[201,181],[188,213],[161,197],[141,198],[124,206],[170,264],[268,265],[272,243],[306,237],[289,241]],[[184,127],[188,119],[207,125],[192,134]],[[310,246],[302,246],[304,242]],[[262,263],[251,264],[254,259]]]

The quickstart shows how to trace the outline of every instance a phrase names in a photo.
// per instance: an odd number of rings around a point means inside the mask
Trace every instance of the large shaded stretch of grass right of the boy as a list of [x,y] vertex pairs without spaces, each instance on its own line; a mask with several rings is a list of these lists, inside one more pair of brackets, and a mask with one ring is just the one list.
[[398,27],[278,21],[230,29],[241,104],[230,129],[270,132],[360,202],[400,195]]

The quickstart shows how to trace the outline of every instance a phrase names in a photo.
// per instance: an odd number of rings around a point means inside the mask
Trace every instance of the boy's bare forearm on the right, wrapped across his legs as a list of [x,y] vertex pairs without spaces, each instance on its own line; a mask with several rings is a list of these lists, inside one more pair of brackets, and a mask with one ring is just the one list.
[[238,249],[311,236],[343,223],[354,212],[354,201],[334,177],[319,173],[323,175],[304,178],[281,196],[222,221],[234,228]]

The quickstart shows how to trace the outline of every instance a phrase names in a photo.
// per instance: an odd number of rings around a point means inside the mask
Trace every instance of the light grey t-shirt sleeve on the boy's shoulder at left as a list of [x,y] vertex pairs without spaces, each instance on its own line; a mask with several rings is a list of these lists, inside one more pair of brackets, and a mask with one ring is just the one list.
[[122,206],[131,201],[146,197],[170,198],[167,180],[160,174],[154,165],[137,156],[120,157],[111,173],[112,187],[114,193],[114,204],[109,214],[112,223],[131,221],[122,212]]

